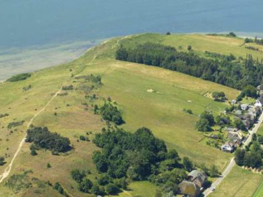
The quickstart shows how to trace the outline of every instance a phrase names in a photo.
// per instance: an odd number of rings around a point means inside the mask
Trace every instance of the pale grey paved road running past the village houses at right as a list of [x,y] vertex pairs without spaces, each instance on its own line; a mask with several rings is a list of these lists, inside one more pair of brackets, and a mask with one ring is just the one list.
[[[244,142],[244,146],[243,149],[245,148],[245,146],[248,146],[248,144],[251,142],[252,140],[252,135],[257,133],[258,129],[260,128],[261,124],[263,122],[263,113],[261,114],[261,116],[259,117],[258,122],[255,124],[255,126],[253,127],[253,129],[251,131],[248,131],[248,138],[246,139],[246,141]],[[217,185],[222,182],[225,177],[230,173],[230,171],[232,170],[232,168],[235,166],[235,161],[234,158],[231,159],[228,167],[225,169],[225,171],[222,173],[222,175],[217,179],[217,181],[215,181],[211,187],[207,188],[202,194],[202,197],[207,197],[209,194],[212,193],[212,188],[216,188]]]

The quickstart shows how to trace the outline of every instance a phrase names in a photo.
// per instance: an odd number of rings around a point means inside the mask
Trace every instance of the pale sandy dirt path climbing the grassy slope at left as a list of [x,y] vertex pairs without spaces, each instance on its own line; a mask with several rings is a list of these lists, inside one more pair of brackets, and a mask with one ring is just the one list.
[[[62,85],[63,86],[63,85]],[[61,92],[62,90],[62,86],[60,88],[59,91],[57,91],[57,93],[47,102],[46,106],[44,106],[40,111],[38,111],[32,118],[31,120],[29,121],[28,125],[27,125],[27,129],[29,129],[30,125],[32,124],[33,120],[41,113],[43,112],[46,107],[51,103],[51,101]],[[15,158],[17,157],[18,153],[21,151],[21,148],[23,146],[23,144],[25,143],[25,140],[26,140],[26,136],[27,134],[23,137],[23,139],[21,140],[19,146],[18,146],[18,149],[16,150],[15,154],[14,154],[14,157],[12,158],[11,160],[11,163],[9,164],[8,167],[5,168],[4,172],[0,175],[0,183],[3,182],[3,180],[8,177],[8,175],[10,174],[11,172],[11,169],[12,169],[12,166],[13,166],[13,163],[15,161]]]

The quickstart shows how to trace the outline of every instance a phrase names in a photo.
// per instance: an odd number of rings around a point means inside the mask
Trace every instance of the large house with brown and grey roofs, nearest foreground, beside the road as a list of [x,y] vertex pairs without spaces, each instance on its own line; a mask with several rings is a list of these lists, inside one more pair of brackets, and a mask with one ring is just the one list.
[[207,175],[204,172],[193,170],[187,175],[186,180],[179,184],[179,188],[181,193],[187,197],[198,197],[206,181]]

